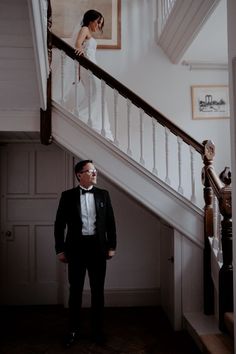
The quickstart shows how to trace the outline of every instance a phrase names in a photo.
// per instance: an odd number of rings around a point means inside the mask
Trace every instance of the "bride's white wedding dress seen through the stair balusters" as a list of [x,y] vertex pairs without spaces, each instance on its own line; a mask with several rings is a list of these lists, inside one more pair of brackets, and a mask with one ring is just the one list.
[[[77,32],[78,33],[78,32]],[[72,37],[73,38],[73,37]],[[73,43],[72,43],[73,41]],[[75,46],[75,41],[72,39],[71,45]],[[91,37],[84,44],[84,55],[86,58],[96,63],[97,41]],[[64,105],[68,110],[73,111],[78,115],[79,119],[84,123],[89,124],[95,131],[103,133],[106,138],[114,140],[107,110],[106,100],[103,100],[102,112],[102,95],[101,81],[88,70],[79,66],[79,79],[77,84],[78,102],[75,107],[75,70],[74,63],[66,57],[64,62]],[[90,97],[90,98],[89,98]],[[90,104],[89,104],[90,102]],[[89,117],[90,110],[90,117]],[[103,126],[102,126],[103,113]],[[103,128],[103,131],[102,131]]]

